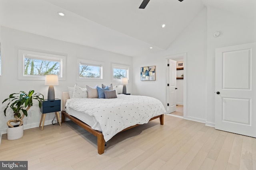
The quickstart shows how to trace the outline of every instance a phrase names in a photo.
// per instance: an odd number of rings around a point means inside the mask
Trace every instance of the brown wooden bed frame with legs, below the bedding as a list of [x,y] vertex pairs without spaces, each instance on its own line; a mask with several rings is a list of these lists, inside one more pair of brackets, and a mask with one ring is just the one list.
[[[73,116],[69,115],[68,113],[66,113],[66,111],[61,111],[61,122],[62,123],[65,122],[65,117],[67,117],[68,119],[72,120],[74,123],[76,123],[80,127],[84,128],[86,131],[92,133],[92,135],[96,136],[97,137],[97,141],[98,141],[98,154],[103,154],[104,153],[104,150],[105,150],[105,140],[103,138],[102,132],[96,131],[96,130],[92,129],[92,127],[90,127],[86,123],[80,121],[76,117],[73,117]],[[160,118],[160,124],[164,125],[164,115],[159,115],[159,116],[153,117],[149,121],[157,119],[158,117]],[[131,127],[128,127],[128,128],[126,128],[126,129],[124,129],[122,131],[126,131],[126,130],[131,129],[133,127],[136,127],[138,125],[139,124],[131,126]]]

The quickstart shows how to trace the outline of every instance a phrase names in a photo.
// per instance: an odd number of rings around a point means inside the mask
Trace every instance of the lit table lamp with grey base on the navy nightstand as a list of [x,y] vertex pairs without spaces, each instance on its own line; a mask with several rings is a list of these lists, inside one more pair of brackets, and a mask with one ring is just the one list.
[[45,75],[45,85],[48,85],[47,100],[55,100],[54,86],[59,85],[58,75]]

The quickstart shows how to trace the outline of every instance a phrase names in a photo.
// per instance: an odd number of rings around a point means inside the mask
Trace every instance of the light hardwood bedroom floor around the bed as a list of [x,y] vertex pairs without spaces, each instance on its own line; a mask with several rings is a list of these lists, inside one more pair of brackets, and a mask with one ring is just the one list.
[[99,155],[97,139],[71,121],[2,135],[0,160],[28,160],[29,170],[254,170],[256,139],[165,115],[119,133]]

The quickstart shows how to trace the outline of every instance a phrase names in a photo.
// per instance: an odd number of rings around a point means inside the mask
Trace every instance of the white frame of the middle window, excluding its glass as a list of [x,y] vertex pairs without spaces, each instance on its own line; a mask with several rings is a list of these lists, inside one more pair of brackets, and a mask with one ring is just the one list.
[[[100,66],[100,78],[91,78],[91,77],[80,77],[80,63],[88,65],[88,66]],[[76,80],[77,81],[102,81],[103,80],[103,68],[104,63],[100,61],[92,61],[92,60],[86,60],[86,59],[77,59],[76,60],[77,65],[77,72],[76,72]]]

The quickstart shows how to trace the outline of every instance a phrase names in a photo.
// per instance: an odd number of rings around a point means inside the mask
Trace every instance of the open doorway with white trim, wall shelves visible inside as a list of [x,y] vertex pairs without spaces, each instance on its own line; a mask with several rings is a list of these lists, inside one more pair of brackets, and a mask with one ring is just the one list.
[[[182,63],[183,68],[180,68],[178,66],[178,70],[175,68],[175,74],[172,74],[170,69],[173,70],[173,68],[169,68],[167,66],[166,69],[166,106],[167,106],[167,111],[168,115],[171,116],[176,116],[176,117],[186,117],[186,58],[187,58],[187,53],[180,53],[176,55],[169,55],[167,56],[167,63],[176,61],[176,63]],[[170,64],[169,64],[170,65]],[[175,78],[172,76],[175,75]],[[178,78],[177,78],[178,77]],[[170,90],[170,86],[168,84],[175,79],[175,94]],[[170,97],[170,95],[172,95]],[[169,109],[168,104],[170,103],[170,99],[175,98],[176,101],[176,108]],[[172,112],[172,113],[171,113]]]

